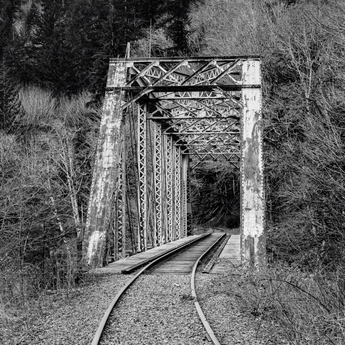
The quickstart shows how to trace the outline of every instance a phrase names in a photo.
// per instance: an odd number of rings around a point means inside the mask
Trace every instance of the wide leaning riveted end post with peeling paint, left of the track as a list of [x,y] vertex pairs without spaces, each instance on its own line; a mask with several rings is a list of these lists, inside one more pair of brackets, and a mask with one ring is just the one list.
[[[119,63],[111,72],[109,85],[119,85],[126,76],[124,63]],[[100,135],[96,153],[95,168],[91,185],[88,215],[83,241],[83,254],[88,264],[101,267],[107,231],[112,209],[116,165],[119,159],[120,128],[122,111],[120,109],[124,92],[107,91],[105,95]]]

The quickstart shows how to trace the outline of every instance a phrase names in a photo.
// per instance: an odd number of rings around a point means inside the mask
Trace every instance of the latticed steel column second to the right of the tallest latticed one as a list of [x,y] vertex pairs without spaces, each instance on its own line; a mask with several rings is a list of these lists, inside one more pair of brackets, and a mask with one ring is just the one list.
[[172,199],[172,184],[173,184],[173,170],[172,170],[172,135],[166,135],[166,160],[165,160],[165,178],[166,178],[166,213],[167,213],[167,242],[173,240],[173,219],[174,219],[174,205]]

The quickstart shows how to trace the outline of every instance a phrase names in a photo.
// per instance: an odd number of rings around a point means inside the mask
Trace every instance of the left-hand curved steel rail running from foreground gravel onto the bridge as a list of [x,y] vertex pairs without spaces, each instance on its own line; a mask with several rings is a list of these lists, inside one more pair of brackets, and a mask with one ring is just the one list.
[[[92,343],[91,345],[98,345],[99,344],[99,340],[101,338],[103,329],[108,321],[109,315],[112,311],[112,309],[114,309],[117,301],[120,299],[120,297],[122,296],[122,294],[127,290],[127,288],[140,276],[140,274],[144,273],[148,268],[150,268],[151,266],[155,265],[157,262],[159,262],[160,260],[163,260],[164,258],[175,254],[176,252],[178,252],[181,249],[184,249],[185,247],[188,247],[192,244],[194,244],[195,242],[198,242],[201,239],[204,239],[205,237],[211,235],[211,233],[209,234],[205,234],[202,235],[194,240],[191,240],[190,242],[187,242],[177,248],[172,248],[171,250],[169,250],[168,253],[162,254],[161,256],[159,256],[158,258],[156,258],[155,260],[153,260],[152,262],[150,262],[149,264],[147,264],[144,268],[142,268],[134,277],[132,277],[130,280],[128,280],[128,282],[121,288],[121,290],[118,292],[118,294],[114,297],[114,299],[111,301],[109,307],[107,308],[106,312],[104,313],[101,322],[98,325],[97,331],[95,333],[95,336],[93,337]],[[220,237],[221,238],[221,237]],[[218,240],[216,241],[216,243],[218,242]],[[211,246],[212,247],[212,246]],[[136,269],[136,268],[135,268]]]

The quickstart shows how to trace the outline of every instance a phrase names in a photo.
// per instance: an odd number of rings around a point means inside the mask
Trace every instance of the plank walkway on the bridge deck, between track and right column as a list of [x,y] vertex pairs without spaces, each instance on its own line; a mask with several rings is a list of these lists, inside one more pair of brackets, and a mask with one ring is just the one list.
[[211,273],[225,274],[227,267],[241,263],[241,235],[231,235]]

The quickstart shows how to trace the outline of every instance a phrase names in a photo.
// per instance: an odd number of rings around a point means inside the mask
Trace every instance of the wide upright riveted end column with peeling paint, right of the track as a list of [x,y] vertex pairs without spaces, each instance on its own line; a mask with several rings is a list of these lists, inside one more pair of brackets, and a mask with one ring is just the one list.
[[[259,85],[260,60],[245,60],[243,85]],[[242,260],[265,260],[264,176],[262,157],[261,89],[242,89],[241,116],[241,241]]]

